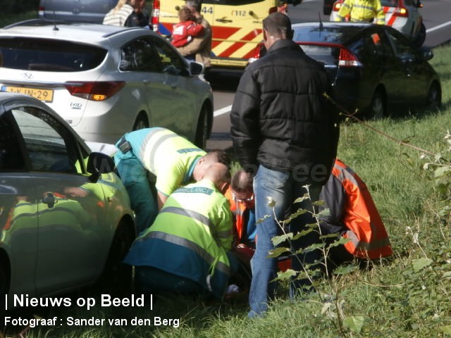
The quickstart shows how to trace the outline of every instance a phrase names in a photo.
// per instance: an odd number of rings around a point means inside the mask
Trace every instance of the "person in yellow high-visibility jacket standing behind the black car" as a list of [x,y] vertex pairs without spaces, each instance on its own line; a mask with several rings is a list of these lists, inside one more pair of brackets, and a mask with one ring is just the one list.
[[380,0],[345,0],[335,21],[345,21],[348,16],[352,23],[385,24],[385,13]]

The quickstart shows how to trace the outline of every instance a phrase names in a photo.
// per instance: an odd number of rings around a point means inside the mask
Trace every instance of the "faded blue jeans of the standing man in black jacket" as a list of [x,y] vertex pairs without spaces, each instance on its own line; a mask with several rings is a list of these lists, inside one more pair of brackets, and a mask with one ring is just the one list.
[[[274,249],[271,238],[280,234],[279,225],[274,219],[274,215],[280,222],[285,220],[285,215],[291,215],[297,209],[312,210],[312,201],[319,200],[321,192],[321,184],[311,184],[309,194],[311,199],[306,199],[301,203],[293,204],[295,199],[304,196],[307,190],[303,187],[307,182],[299,182],[288,171],[278,171],[259,166],[257,175],[254,177],[254,194],[255,194],[255,211],[257,220],[263,220],[265,215],[269,215],[261,223],[257,224],[257,247],[251,260],[252,283],[249,292],[249,305],[251,311],[249,317],[263,314],[268,308],[268,301],[271,301],[276,293],[276,282],[271,282],[277,276],[277,258],[266,258],[268,251]],[[268,206],[268,198],[271,197],[276,204]],[[296,233],[301,231],[306,224],[314,223],[311,213],[304,213],[297,216],[290,222],[290,232]],[[310,232],[309,235],[301,237],[293,242],[295,249],[309,246],[319,241],[318,232]],[[306,254],[297,255],[299,260],[304,263],[313,263],[319,258],[319,251],[312,251]],[[296,258],[292,259],[293,270],[302,270],[302,265]],[[295,281],[290,283],[290,296],[294,296],[295,292],[303,284],[307,284],[306,280]]]

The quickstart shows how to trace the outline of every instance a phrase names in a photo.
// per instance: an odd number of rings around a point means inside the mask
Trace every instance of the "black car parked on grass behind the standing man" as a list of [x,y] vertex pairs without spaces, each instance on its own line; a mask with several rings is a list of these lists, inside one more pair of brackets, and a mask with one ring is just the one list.
[[416,49],[392,27],[299,23],[292,28],[293,40],[324,63],[333,99],[347,111],[382,118],[406,108],[415,113],[417,108],[440,107],[440,78],[428,63],[433,52]]

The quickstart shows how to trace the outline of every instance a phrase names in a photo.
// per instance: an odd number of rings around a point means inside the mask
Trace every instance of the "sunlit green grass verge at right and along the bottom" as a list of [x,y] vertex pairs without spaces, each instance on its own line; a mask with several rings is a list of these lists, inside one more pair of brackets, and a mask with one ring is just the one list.
[[[441,152],[450,160],[443,138],[451,130],[451,46],[435,49],[431,64],[442,80],[440,111],[369,124],[396,139]],[[135,317],[158,316],[180,318],[180,327],[62,325],[30,328],[26,337],[445,337],[451,332],[451,217],[449,211],[440,213],[439,208],[450,204],[450,194],[439,194],[436,184],[424,178],[420,155],[364,125],[341,126],[338,156],[368,185],[395,257],[319,285],[321,293],[335,296],[336,302],[321,301],[317,294],[288,301],[283,286],[280,299],[265,318],[247,320],[245,297],[206,302],[154,296],[153,310],[149,303],[145,308],[96,306],[89,312],[72,306],[45,315],[63,321],[68,316],[124,318],[128,323]],[[340,330],[335,306],[351,329]]]

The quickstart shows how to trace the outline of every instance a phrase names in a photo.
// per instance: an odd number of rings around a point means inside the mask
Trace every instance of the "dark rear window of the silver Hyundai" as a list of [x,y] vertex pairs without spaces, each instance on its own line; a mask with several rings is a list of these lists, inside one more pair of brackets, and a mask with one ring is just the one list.
[[80,72],[96,68],[106,49],[87,44],[35,38],[1,38],[0,60],[4,68],[47,72]]

